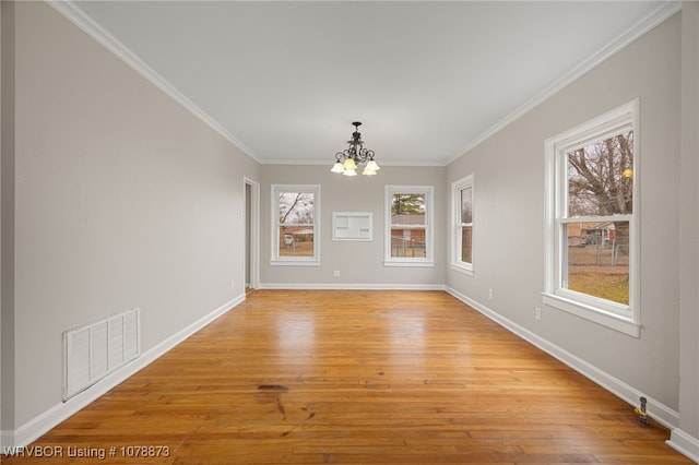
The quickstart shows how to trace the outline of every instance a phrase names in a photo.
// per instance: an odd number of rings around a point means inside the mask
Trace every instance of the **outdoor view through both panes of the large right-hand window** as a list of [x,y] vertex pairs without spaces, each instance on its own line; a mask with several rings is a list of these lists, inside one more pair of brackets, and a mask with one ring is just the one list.
[[[629,229],[633,213],[633,131],[566,154],[568,242],[564,287],[629,305]],[[613,218],[609,218],[613,216]]]

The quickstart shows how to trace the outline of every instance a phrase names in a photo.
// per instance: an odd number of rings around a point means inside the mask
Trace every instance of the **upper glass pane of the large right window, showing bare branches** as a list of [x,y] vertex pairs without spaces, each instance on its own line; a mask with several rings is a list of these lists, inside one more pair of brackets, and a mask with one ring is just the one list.
[[568,216],[633,213],[633,131],[577,148],[568,157]]

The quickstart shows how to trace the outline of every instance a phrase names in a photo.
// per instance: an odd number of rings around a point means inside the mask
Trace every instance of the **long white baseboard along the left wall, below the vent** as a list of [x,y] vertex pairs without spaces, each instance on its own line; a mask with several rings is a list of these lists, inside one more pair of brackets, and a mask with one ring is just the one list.
[[51,428],[68,419],[71,415],[74,415],[82,408],[86,407],[88,404],[104,395],[107,391],[111,390],[132,374],[145,368],[151,362],[155,361],[158,357],[170,350],[173,347],[175,347],[192,334],[197,333],[199,330],[206,326],[209,323],[223,315],[244,300],[245,294],[227,301],[211,313],[204,315],[203,318],[199,319],[181,331],[173,334],[170,337],[166,338],[162,343],[142,354],[139,358],[134,359],[128,365],[125,365],[114,373],[110,373],[107,377],[103,378],[91,388],[86,389],[69,401],[55,405],[54,407],[22,425],[14,431],[0,431],[0,446],[12,448],[25,446],[31,444],[33,441],[48,432]]

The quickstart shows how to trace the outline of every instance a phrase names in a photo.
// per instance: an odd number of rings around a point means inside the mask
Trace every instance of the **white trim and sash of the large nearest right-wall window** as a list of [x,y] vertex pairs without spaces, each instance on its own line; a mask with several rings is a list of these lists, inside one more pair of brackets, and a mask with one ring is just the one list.
[[[576,314],[580,318],[602,324],[633,337],[640,337],[640,119],[639,99],[635,99],[577,128],[562,132],[544,142],[545,151],[545,286],[543,302],[553,308]],[[562,198],[567,174],[565,164],[558,163],[562,154],[571,146],[578,146],[588,139],[599,139],[605,134],[617,133],[620,129],[633,129],[633,214],[623,215],[629,218],[629,305],[624,306],[605,299],[595,298],[559,286],[565,240],[561,237],[561,224],[584,220],[585,218],[566,218],[565,208],[557,199]],[[603,217],[604,218],[604,217]],[[618,219],[618,217],[616,218]]]

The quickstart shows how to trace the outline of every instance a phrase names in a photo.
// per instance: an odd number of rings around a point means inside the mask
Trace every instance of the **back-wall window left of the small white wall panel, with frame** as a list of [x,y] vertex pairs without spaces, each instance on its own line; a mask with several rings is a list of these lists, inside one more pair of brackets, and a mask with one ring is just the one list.
[[272,186],[273,265],[319,265],[320,186]]

